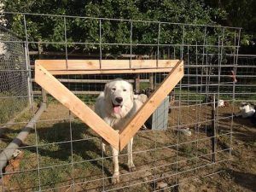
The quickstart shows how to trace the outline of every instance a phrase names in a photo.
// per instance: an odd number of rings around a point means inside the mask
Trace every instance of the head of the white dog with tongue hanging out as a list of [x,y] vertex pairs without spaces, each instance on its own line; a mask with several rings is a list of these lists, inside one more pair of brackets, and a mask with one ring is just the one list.
[[124,118],[133,107],[132,85],[125,80],[115,79],[105,84],[105,100],[108,110],[115,118]]

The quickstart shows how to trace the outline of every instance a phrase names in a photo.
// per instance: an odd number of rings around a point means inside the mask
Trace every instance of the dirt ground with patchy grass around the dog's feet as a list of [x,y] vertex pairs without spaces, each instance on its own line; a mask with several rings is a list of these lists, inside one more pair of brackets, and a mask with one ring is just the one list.
[[[186,105],[172,108],[167,130],[137,133],[133,148],[137,172],[128,171],[123,150],[121,182],[113,185],[110,148],[102,153],[101,139],[60,103],[50,101],[36,131],[20,148],[19,170],[5,172],[11,177],[3,180],[2,190],[256,191],[256,127],[249,119],[235,118],[232,123],[231,105],[218,108],[216,161],[212,162],[211,107]],[[6,131],[2,149],[30,118],[31,113],[24,114],[17,119],[24,123]],[[189,128],[192,135],[182,135],[177,127]]]

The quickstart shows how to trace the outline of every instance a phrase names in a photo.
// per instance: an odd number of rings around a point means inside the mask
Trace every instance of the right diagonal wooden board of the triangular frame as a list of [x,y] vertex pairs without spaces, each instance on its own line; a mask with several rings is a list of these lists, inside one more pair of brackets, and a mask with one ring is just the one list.
[[135,114],[133,118],[120,131],[120,150],[125,148],[126,144],[131,140],[131,137],[137,133],[149,116],[154,113],[154,110],[160,106],[166,96],[174,89],[176,84],[183,78],[183,61],[179,61],[172,69],[162,84],[154,91],[148,101]]

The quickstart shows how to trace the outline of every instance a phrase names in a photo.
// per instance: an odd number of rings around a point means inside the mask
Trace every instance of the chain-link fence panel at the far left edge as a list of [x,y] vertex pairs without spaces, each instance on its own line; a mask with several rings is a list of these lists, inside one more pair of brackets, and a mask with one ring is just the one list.
[[23,43],[0,27],[0,123],[6,123],[26,108],[29,101],[28,71]]

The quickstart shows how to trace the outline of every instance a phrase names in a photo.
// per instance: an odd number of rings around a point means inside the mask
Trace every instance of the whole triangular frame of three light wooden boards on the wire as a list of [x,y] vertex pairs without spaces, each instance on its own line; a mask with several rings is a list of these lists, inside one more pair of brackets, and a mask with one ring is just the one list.
[[[61,84],[53,75],[106,73],[169,72],[148,101],[119,132]],[[61,102],[114,148],[122,150],[160,103],[183,78],[183,61],[179,60],[37,60],[35,81]]]

